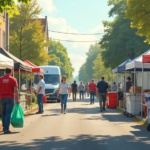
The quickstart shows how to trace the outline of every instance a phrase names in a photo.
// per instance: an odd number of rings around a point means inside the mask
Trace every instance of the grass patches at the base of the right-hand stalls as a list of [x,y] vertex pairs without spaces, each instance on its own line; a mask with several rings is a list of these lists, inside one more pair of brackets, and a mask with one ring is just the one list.
[[[120,112],[121,114],[124,114],[124,110],[120,109],[120,108],[115,108],[118,112]],[[147,127],[149,124],[148,124],[148,119],[144,119],[144,120],[141,120],[140,118],[134,116],[131,118],[133,121],[137,122],[138,124],[141,124],[143,125],[144,127]]]

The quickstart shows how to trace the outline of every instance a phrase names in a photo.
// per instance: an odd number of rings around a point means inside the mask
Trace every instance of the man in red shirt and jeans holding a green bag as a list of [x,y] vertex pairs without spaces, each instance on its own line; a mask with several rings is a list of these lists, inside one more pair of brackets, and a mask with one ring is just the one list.
[[14,107],[14,94],[19,104],[18,83],[13,78],[12,70],[6,68],[6,75],[0,77],[0,105],[2,108],[2,126],[4,133],[11,133],[9,130],[11,113]]

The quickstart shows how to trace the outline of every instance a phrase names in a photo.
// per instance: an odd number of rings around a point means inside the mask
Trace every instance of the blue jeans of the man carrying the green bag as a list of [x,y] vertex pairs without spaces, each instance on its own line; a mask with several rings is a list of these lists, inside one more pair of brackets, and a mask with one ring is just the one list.
[[11,113],[14,107],[14,100],[11,98],[3,98],[0,101],[1,101],[1,107],[2,107],[3,131],[9,130]]

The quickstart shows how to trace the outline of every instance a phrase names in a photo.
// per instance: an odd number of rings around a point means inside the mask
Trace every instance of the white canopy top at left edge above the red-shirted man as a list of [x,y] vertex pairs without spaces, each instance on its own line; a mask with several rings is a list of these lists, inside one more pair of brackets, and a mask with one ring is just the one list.
[[14,67],[14,61],[2,54],[0,54],[0,69],[5,69],[7,67],[13,68]]

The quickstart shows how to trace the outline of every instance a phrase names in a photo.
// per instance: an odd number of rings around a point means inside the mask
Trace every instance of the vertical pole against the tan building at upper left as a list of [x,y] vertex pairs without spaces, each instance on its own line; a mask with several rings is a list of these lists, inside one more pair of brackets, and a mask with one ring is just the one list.
[[9,14],[6,13],[6,51],[9,52]]

